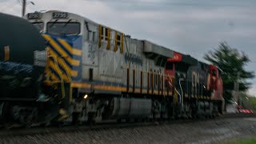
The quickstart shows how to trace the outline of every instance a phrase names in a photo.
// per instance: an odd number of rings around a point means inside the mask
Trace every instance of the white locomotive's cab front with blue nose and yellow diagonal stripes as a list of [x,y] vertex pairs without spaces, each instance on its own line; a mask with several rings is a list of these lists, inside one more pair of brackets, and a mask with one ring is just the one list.
[[[47,86],[52,86],[56,82],[66,83],[61,87],[69,87],[70,82],[81,76],[78,70],[81,69],[84,19],[76,14],[57,10],[30,13],[23,18],[39,30],[48,46],[44,82]],[[47,95],[52,95],[50,93]],[[69,94],[61,92],[60,95]]]

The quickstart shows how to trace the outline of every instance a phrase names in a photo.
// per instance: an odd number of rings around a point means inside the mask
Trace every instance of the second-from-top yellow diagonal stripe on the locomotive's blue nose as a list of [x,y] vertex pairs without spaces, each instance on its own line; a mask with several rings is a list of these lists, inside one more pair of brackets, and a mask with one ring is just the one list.
[[47,40],[48,42],[50,42],[50,44],[51,44],[52,46],[54,46],[54,48],[55,48],[56,50],[58,50],[58,53],[59,53],[59,54],[62,54],[62,57],[63,57],[63,58],[66,58],[67,62],[69,62],[69,63],[70,63],[71,65],[73,65],[73,66],[79,66],[79,65],[80,65],[80,61],[74,60],[74,59],[70,58],[70,56],[69,56],[68,54],[66,54],[66,52],[65,52],[64,50],[62,50],[62,47],[61,47],[61,46],[58,46],[58,43],[55,42],[53,38],[50,38],[50,36],[49,36],[49,35],[46,35],[46,34],[43,34],[42,36],[43,36],[44,38],[46,38],[46,40]]

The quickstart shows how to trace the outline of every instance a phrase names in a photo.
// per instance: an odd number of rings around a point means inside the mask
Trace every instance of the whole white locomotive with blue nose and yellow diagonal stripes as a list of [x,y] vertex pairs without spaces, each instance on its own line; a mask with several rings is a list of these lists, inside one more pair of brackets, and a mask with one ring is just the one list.
[[58,97],[64,99],[59,119],[170,116],[174,90],[165,65],[172,50],[77,14],[50,10],[24,18],[49,44],[45,85],[57,83]]

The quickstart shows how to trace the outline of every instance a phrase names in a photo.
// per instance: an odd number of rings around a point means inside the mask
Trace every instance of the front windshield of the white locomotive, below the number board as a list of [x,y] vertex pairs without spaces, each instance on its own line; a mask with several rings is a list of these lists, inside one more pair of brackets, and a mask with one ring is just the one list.
[[48,22],[47,33],[58,35],[77,35],[80,33],[78,22]]

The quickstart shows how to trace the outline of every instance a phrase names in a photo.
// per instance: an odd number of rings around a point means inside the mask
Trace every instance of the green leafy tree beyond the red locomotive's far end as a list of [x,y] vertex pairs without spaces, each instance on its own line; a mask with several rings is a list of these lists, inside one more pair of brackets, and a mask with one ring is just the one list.
[[246,80],[254,78],[254,71],[245,70],[250,59],[244,52],[231,48],[226,42],[220,42],[218,49],[210,50],[204,58],[222,70],[223,97],[226,102],[232,98],[234,82],[239,82],[239,91],[244,92],[250,88],[251,83]]

